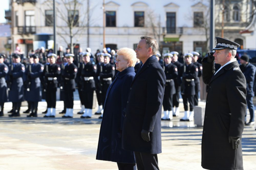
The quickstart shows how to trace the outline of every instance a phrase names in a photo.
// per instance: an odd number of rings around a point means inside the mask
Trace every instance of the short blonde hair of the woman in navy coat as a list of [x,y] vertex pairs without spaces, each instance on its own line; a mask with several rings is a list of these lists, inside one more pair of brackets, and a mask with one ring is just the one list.
[[133,49],[130,48],[120,48],[117,53],[117,55],[123,55],[125,60],[129,60],[130,64],[128,65],[128,67],[134,67],[136,62],[137,62],[137,58],[136,58],[136,52]]

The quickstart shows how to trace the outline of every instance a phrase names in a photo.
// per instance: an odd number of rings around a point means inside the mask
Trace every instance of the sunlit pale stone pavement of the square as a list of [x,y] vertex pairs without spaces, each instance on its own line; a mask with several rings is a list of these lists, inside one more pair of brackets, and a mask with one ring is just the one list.
[[[200,105],[204,103],[200,102]],[[39,113],[46,103],[40,102]],[[181,107],[183,105],[181,104]],[[63,102],[57,102],[61,111]],[[75,112],[80,102],[75,101]],[[5,116],[0,118],[0,170],[117,170],[116,163],[96,160],[101,120],[74,118],[9,118],[5,104]],[[26,107],[21,108],[22,111]],[[96,110],[94,110],[96,111]],[[162,122],[162,153],[158,154],[161,170],[201,170],[202,128],[194,122]],[[245,127],[242,139],[245,170],[256,169],[256,131]]]

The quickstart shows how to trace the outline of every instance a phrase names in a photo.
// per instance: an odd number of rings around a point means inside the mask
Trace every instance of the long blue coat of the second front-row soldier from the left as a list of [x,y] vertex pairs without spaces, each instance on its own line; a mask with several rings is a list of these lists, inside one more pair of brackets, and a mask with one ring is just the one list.
[[9,66],[8,81],[11,83],[9,91],[10,102],[22,102],[24,100],[23,74],[25,66],[22,63]]

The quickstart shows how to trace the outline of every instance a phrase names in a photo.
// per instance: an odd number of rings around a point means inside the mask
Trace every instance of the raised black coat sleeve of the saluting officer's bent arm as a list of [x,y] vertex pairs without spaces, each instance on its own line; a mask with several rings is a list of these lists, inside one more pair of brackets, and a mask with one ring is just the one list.
[[202,78],[204,84],[208,85],[211,82],[212,75],[215,71],[214,62],[213,63],[207,63],[207,57],[204,57],[202,60]]

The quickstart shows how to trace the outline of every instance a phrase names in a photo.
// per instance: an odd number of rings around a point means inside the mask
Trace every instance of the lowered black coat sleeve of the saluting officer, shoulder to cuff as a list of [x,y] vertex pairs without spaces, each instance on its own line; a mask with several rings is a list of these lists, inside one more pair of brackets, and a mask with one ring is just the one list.
[[246,83],[241,71],[233,72],[228,77],[226,91],[231,112],[228,135],[242,137],[246,114]]

